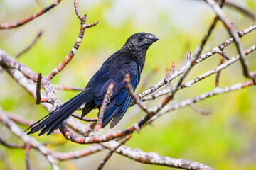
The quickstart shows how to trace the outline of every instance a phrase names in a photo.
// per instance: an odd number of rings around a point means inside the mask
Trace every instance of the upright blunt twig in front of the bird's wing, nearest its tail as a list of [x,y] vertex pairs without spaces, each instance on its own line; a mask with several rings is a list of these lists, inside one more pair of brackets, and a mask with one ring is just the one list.
[[105,109],[107,107],[107,103],[110,102],[110,96],[112,94],[113,91],[113,84],[111,83],[108,88],[107,88],[107,92],[104,96],[103,102],[102,102],[102,106],[100,107],[100,113],[98,116],[98,120],[97,120],[97,125],[96,125],[96,130],[99,131],[102,128],[102,120],[103,120],[103,115],[105,113]]

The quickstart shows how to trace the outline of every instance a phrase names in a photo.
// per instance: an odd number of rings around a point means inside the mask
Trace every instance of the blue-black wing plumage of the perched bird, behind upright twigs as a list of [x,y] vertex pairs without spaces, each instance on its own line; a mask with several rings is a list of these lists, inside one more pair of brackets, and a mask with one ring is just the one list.
[[129,108],[132,98],[129,96],[127,89],[125,89],[124,77],[125,74],[130,74],[132,88],[135,90],[139,84],[137,67],[137,63],[130,56],[110,57],[110,60],[102,64],[102,68],[92,77],[90,84],[95,86],[94,103],[97,106],[102,105],[108,86],[111,83],[114,85],[110,102],[107,104],[103,116],[102,128],[114,118],[110,125],[110,128],[113,128]]

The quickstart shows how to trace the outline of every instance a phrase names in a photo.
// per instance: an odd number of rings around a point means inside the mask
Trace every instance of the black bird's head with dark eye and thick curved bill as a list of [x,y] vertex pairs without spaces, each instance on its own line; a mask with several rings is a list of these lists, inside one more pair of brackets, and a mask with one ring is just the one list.
[[146,50],[157,40],[159,38],[151,33],[135,33],[127,39],[123,49],[131,52],[135,57],[140,57],[140,55],[146,55]]

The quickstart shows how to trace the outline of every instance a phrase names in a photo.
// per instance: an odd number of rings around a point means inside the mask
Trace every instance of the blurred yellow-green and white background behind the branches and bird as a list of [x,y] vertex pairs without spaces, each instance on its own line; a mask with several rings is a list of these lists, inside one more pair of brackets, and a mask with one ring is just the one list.
[[[255,0],[233,0],[236,4],[256,11]],[[0,23],[19,21],[30,16],[48,4],[50,0],[0,0]],[[94,28],[85,30],[82,45],[63,72],[53,79],[53,84],[84,87],[102,62],[124,45],[133,33],[148,32],[159,37],[146,55],[146,64],[137,93],[155,84],[166,76],[166,69],[175,62],[176,69],[186,62],[186,53],[196,49],[213,21],[214,13],[203,1],[189,0],[84,0],[78,1],[81,13],[87,13],[87,23],[99,21]],[[252,26],[254,21],[233,8],[224,8],[225,15],[238,30]],[[73,1],[61,3],[39,18],[19,28],[0,31],[0,47],[11,56],[23,50],[43,29],[43,36],[36,45],[22,55],[18,61],[26,64],[35,72],[47,75],[64,57],[68,55],[80,30],[80,21],[75,16]],[[242,38],[244,49],[255,45],[255,31]],[[204,52],[227,40],[229,35],[221,23],[217,24],[210,36]],[[234,45],[225,49],[228,57],[237,54]],[[196,65],[186,81],[198,77],[220,62],[214,55]],[[247,56],[250,68],[256,69],[255,52]],[[233,64],[220,74],[220,87],[246,81],[240,63]],[[175,81],[174,81],[175,82]],[[174,83],[172,83],[174,84]],[[176,103],[185,98],[210,91],[215,86],[215,75],[178,91]],[[215,169],[256,169],[256,114],[255,87],[208,98],[197,103],[198,108],[211,111],[205,116],[192,108],[181,108],[166,113],[153,125],[148,125],[126,143],[144,152],[156,152],[162,156],[191,159],[212,166]],[[60,101],[75,96],[75,91],[58,91]],[[148,106],[159,103],[150,101]],[[36,106],[35,100],[24,91],[6,72],[0,73],[0,104],[4,111],[22,115],[28,120],[38,120],[47,111]],[[78,112],[79,113],[79,112]],[[97,111],[90,113],[94,118]],[[126,128],[144,116],[138,107],[129,111],[114,130]],[[26,129],[25,126],[21,126]],[[102,134],[109,132],[107,127]],[[11,132],[0,124],[1,137],[8,142],[20,142]],[[36,135],[32,135],[37,137]],[[69,142],[61,135],[37,137],[50,149],[62,152],[75,151],[89,147]],[[54,145],[53,145],[54,144]],[[66,162],[60,162],[61,169],[96,169],[107,151]],[[50,169],[45,157],[31,150],[32,169]],[[23,150],[6,149],[0,145],[0,169],[25,169]],[[134,162],[132,159],[114,154],[105,169],[169,169]]]

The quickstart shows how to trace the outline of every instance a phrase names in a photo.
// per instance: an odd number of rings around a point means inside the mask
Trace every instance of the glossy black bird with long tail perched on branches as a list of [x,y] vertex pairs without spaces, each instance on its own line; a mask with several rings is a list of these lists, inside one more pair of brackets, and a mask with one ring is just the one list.
[[124,46],[102,64],[84,91],[31,125],[28,128],[31,129],[28,134],[43,129],[39,135],[46,132],[48,132],[47,135],[50,135],[83,103],[86,104],[82,111],[82,117],[87,115],[95,106],[100,108],[110,83],[114,85],[114,89],[103,115],[102,128],[111,120],[110,128],[113,128],[121,120],[132,102],[132,98],[125,89],[124,76],[127,73],[130,75],[131,85],[135,91],[144,67],[146,50],[157,40],[159,38],[151,33],[135,33],[129,37]]

